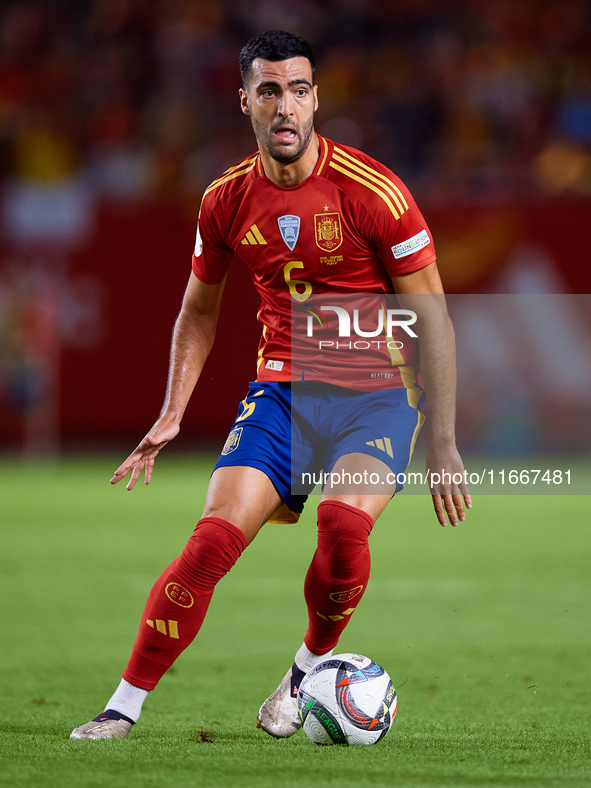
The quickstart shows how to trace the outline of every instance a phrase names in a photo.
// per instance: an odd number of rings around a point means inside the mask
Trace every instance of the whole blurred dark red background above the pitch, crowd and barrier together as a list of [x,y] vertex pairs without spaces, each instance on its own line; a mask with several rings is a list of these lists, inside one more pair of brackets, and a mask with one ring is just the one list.
[[[411,187],[448,293],[589,292],[588,0],[0,0],[0,451],[131,442],[151,423],[201,195],[254,149],[238,53],[274,28],[314,46],[317,129]],[[224,304],[241,331],[220,321],[217,346],[239,386],[260,332],[246,269]],[[473,449],[501,433],[507,448],[588,447],[588,301],[542,310],[543,331],[535,309],[516,324],[504,302],[466,304],[458,325],[479,337],[486,380],[515,381],[504,398],[488,386]],[[508,362],[548,357],[549,334],[560,374]],[[219,441],[235,412],[216,358],[185,418],[192,440]],[[483,402],[475,365],[464,378],[460,365],[460,428]]]

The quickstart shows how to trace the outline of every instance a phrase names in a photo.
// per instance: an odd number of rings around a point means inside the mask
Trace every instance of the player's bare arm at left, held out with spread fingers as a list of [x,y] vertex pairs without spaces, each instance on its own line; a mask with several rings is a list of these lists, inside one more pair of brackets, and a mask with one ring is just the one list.
[[174,326],[166,396],[160,416],[139,446],[117,468],[111,484],[117,484],[131,471],[127,489],[132,490],[142,470],[149,484],[158,452],[178,435],[181,419],[213,345],[224,282],[225,279],[219,284],[208,285],[191,273]]

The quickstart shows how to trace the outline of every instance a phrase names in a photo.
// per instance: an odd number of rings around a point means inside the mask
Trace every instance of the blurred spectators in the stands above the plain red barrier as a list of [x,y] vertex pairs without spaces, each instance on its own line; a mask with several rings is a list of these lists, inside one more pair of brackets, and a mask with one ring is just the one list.
[[5,223],[31,229],[19,186],[193,206],[253,148],[237,55],[270,28],[315,47],[319,130],[422,200],[591,196],[585,0],[5,0]]

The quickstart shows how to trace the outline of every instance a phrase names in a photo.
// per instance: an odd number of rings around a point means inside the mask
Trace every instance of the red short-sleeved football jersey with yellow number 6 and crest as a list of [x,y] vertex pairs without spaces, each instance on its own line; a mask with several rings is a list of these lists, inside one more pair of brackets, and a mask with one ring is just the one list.
[[302,368],[312,366],[309,378],[353,389],[413,389],[418,346],[407,334],[390,348],[369,342],[355,360],[335,350],[317,355],[313,363],[300,359],[292,365],[294,320],[298,309],[306,311],[308,299],[315,308],[307,311],[316,316],[322,295],[342,303],[347,294],[393,293],[390,277],[435,260],[431,233],[402,181],[358,150],[320,136],[319,141],[314,171],[298,186],[272,183],[259,153],[209,186],[199,214],[193,271],[207,284],[221,282],[235,254],[252,270],[263,326],[257,380],[301,379]]

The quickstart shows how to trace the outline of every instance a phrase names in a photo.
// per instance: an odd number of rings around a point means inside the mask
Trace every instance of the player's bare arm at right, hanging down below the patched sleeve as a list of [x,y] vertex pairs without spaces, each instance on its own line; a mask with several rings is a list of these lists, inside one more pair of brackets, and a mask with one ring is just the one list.
[[[464,506],[470,509],[472,499],[456,448],[455,336],[437,265],[431,263],[418,271],[393,276],[392,283],[400,306],[417,315],[413,329],[418,336],[426,393],[427,471],[433,506],[441,525],[447,525],[448,517],[452,525],[457,525],[465,519]],[[456,479],[458,475],[462,478],[459,484],[453,482],[454,474]],[[433,484],[437,479],[439,483]]]

